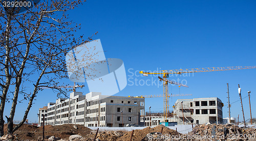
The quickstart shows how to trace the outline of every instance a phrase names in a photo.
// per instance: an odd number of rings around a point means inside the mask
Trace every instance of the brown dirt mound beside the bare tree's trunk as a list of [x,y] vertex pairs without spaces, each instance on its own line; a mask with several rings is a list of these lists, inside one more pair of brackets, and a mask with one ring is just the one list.
[[[81,125],[74,125],[74,124],[65,124],[65,125],[57,125],[45,126],[45,136],[51,137],[56,136],[62,139],[69,138],[70,135],[78,134],[83,137],[86,137],[87,134],[90,134],[91,129],[81,126]],[[7,125],[5,125],[5,134],[7,133]],[[42,127],[37,127],[33,125],[24,124],[18,130],[16,130],[13,134],[18,139],[22,140],[36,140],[38,137],[42,136]]]

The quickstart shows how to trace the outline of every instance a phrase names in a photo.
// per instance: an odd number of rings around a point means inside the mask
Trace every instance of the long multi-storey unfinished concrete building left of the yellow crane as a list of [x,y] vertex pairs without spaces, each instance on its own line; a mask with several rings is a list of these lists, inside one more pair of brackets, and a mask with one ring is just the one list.
[[87,127],[122,127],[126,124],[143,125],[144,98],[103,96],[100,92],[70,93],[69,99],[48,103],[47,124],[80,124]]

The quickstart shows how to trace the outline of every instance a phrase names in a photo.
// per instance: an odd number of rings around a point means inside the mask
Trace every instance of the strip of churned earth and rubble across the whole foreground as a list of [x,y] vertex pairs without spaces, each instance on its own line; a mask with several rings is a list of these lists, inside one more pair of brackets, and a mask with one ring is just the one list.
[[[130,140],[132,132],[100,130],[96,139]],[[176,130],[159,125],[154,128],[146,127],[134,130],[132,140],[256,140],[255,133],[255,128],[240,128],[236,125],[203,124],[194,126],[193,130],[187,134],[182,134]],[[7,134],[7,125],[5,125],[5,134]],[[81,125],[45,126],[45,140],[93,140],[95,135],[96,130],[91,130]],[[1,137],[1,139],[10,140],[6,136]],[[42,127],[24,124],[13,133],[13,137],[11,140],[42,140]]]

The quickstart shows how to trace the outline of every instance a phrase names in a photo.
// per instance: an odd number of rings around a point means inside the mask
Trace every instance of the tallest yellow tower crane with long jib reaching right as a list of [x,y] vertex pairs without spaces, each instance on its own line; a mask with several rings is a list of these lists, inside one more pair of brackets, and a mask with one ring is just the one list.
[[[203,67],[203,68],[189,68],[189,69],[171,69],[171,70],[159,70],[156,72],[143,72],[140,71],[140,74],[143,74],[143,76],[148,75],[163,75],[163,78],[159,78],[160,81],[164,81],[163,83],[163,95],[164,97],[164,121],[167,117],[167,113],[169,111],[169,104],[168,104],[168,83],[170,82],[167,80],[169,77],[169,74],[184,74],[184,73],[199,73],[199,72],[216,72],[216,71],[222,71],[222,70],[236,70],[236,69],[249,69],[249,68],[256,68],[256,66],[227,66],[227,67]],[[181,85],[182,86],[182,85]]]

